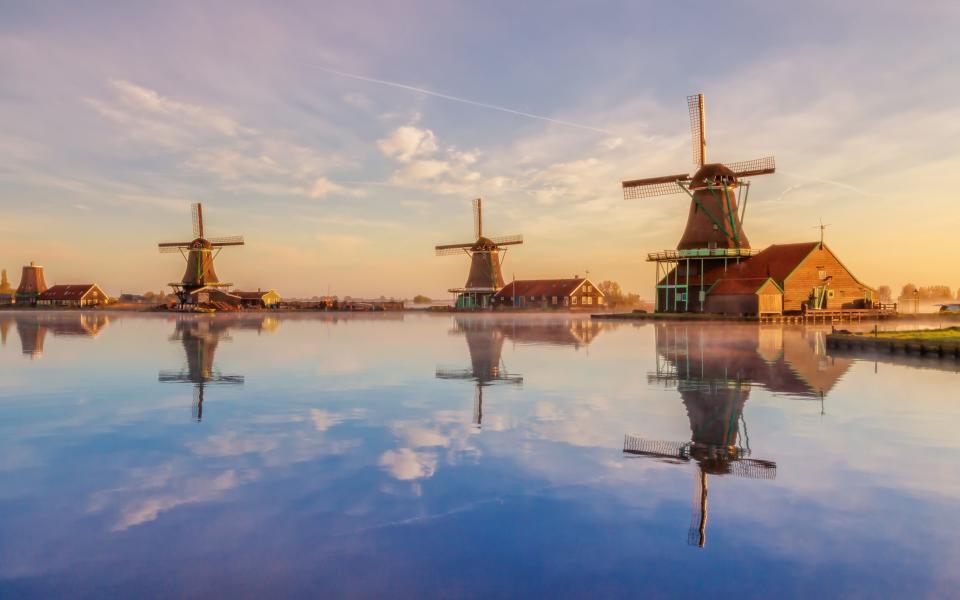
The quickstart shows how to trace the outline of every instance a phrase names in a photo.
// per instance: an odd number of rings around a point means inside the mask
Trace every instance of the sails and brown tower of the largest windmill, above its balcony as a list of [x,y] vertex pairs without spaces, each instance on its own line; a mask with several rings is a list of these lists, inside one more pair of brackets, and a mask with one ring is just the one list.
[[[750,242],[743,232],[749,183],[742,178],[776,170],[772,156],[735,163],[707,163],[706,111],[703,94],[687,96],[693,163],[697,171],[623,182],[626,199],[650,198],[685,192],[690,196],[687,226],[677,250],[743,248]],[[737,211],[737,190],[745,189]]]

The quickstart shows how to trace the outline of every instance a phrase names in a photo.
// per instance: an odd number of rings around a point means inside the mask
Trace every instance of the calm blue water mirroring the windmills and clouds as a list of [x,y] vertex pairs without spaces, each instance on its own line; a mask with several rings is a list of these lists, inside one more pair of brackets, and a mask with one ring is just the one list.
[[4,598],[958,594],[955,362],[580,317],[0,334]]

